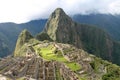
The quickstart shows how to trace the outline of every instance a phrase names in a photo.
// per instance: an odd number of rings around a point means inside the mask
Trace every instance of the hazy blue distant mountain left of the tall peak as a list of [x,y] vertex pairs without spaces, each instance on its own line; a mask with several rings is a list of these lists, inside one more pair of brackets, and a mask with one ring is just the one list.
[[0,23],[0,44],[5,43],[7,48],[9,49],[9,52],[6,51],[5,54],[4,50],[1,48],[0,57],[4,57],[13,52],[18,35],[23,29],[28,29],[33,35],[35,35],[43,30],[46,21],[46,19],[41,19],[23,24]]

